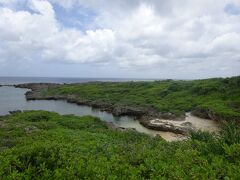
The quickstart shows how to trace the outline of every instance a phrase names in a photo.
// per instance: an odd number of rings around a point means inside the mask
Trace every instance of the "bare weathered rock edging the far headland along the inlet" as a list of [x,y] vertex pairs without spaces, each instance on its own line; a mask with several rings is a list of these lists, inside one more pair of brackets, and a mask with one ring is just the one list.
[[[87,105],[95,108],[99,108],[102,111],[107,111],[115,116],[133,116],[139,120],[140,124],[144,127],[156,131],[167,131],[176,134],[186,135],[189,131],[194,130],[192,125],[184,124],[176,125],[174,121],[184,121],[185,116],[176,116],[172,113],[160,113],[154,110],[136,108],[136,107],[121,107],[106,104],[98,101],[90,101],[81,99],[74,95],[65,96],[46,96],[43,95],[50,87],[61,86],[61,84],[53,83],[27,83],[14,85],[16,88],[27,88],[31,91],[26,92],[27,100],[66,100],[69,103],[75,103],[78,105]],[[110,125],[112,126],[112,125]],[[115,129],[119,129],[114,127]]]

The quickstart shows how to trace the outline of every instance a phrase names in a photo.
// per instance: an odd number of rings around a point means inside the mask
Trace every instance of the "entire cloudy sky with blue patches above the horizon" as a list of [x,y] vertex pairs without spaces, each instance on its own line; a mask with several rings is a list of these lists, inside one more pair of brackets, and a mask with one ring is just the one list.
[[0,0],[0,76],[240,75],[240,0]]

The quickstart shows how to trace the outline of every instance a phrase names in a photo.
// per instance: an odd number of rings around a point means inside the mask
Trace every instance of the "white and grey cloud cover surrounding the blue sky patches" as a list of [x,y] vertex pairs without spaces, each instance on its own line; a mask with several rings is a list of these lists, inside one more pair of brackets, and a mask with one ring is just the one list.
[[[240,15],[229,14],[231,9],[225,12],[227,0],[26,2],[33,12],[17,10],[17,0],[0,0],[0,56],[5,61],[39,59],[179,72],[188,66],[189,74],[211,67],[223,75],[240,73]],[[240,5],[238,0],[231,2]],[[96,12],[90,26],[94,29],[64,27],[54,4]]]

